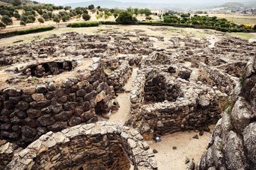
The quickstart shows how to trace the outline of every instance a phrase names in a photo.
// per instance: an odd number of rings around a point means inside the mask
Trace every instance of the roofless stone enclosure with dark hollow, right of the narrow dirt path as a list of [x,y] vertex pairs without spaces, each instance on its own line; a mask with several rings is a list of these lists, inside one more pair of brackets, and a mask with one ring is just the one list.
[[[138,70],[130,93],[131,119],[127,125],[138,128],[145,139],[152,139],[153,134],[164,135],[181,130],[209,130],[207,126],[220,119],[219,98],[222,92],[201,83],[189,83],[180,78],[180,72],[183,69],[177,68],[168,77],[170,70],[162,70],[160,78],[165,81],[165,94],[158,101],[154,100],[154,96],[161,95],[157,92],[162,82],[157,79],[158,74],[148,81],[147,72]],[[156,91],[156,94],[148,97],[147,91]]]

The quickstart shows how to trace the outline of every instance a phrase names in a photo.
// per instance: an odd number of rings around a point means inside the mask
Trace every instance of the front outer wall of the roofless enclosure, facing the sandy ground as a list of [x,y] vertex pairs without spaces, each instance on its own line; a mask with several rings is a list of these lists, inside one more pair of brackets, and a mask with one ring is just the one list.
[[153,133],[164,135],[182,130],[208,130],[207,126],[216,123],[221,117],[221,110],[217,100],[204,102],[207,104],[197,102],[196,98],[183,98],[175,102],[143,105],[141,133],[153,130]]

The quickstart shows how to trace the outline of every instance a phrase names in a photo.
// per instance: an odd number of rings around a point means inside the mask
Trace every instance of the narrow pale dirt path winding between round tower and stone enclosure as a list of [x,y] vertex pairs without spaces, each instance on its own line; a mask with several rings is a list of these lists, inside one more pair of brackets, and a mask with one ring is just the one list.
[[137,75],[137,71],[138,71],[138,68],[132,69],[132,75],[127,81],[127,84],[124,86],[124,89],[127,92],[118,93],[118,97],[116,99],[120,104],[120,108],[118,109],[117,112],[111,114],[108,122],[114,122],[115,124],[118,124],[118,125],[124,125],[124,123],[127,122],[130,109],[131,109],[131,104],[129,101],[129,90],[132,88],[132,81],[134,81]]

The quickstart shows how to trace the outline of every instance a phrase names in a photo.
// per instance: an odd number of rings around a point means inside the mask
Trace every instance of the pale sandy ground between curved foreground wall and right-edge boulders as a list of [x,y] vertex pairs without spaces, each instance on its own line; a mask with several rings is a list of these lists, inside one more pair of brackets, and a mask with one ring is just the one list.
[[[214,125],[210,126],[211,132]],[[162,136],[161,142],[147,141],[150,148],[156,149],[156,161],[159,170],[183,170],[186,169],[185,160],[194,158],[197,164],[207,148],[212,133],[204,132],[199,139],[192,137],[197,132],[177,132],[166,136]],[[176,146],[174,150],[172,147]]]

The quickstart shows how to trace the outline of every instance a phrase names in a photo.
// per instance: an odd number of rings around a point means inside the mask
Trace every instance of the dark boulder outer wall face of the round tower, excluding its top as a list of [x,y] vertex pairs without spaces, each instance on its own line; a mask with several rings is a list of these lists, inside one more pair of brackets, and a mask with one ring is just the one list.
[[48,131],[97,122],[96,114],[109,113],[112,89],[100,59],[93,60],[86,70],[65,75],[58,83],[1,89],[0,139],[25,146]]

